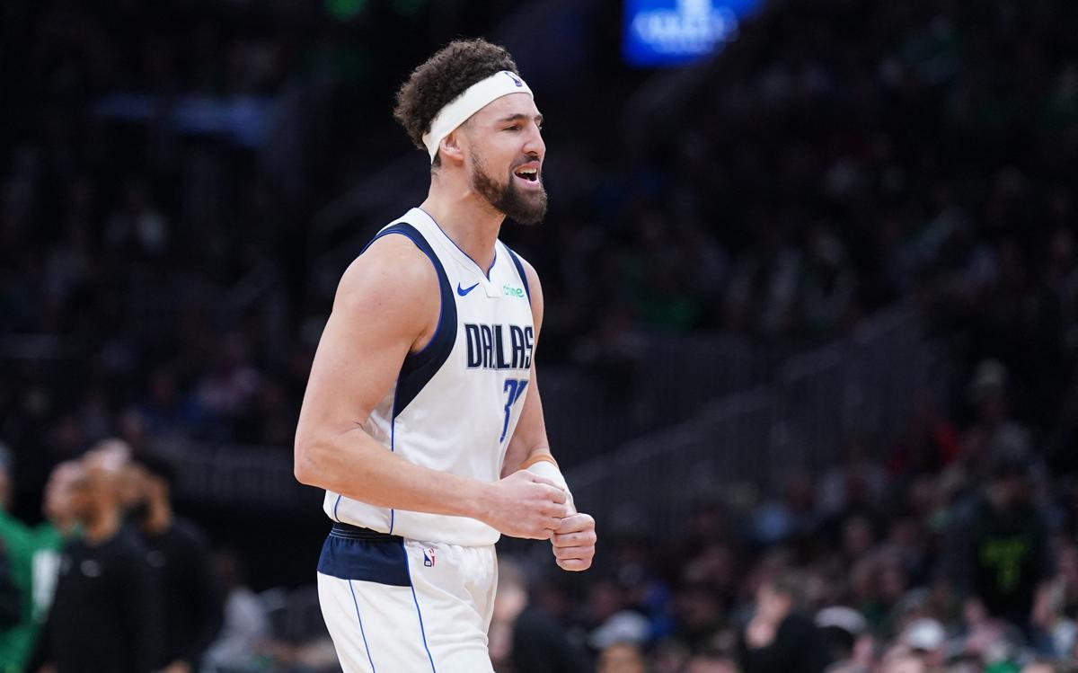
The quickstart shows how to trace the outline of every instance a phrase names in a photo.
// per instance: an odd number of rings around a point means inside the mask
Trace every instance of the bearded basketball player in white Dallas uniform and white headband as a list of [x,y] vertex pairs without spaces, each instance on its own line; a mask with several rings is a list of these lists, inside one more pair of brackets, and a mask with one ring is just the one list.
[[499,535],[551,540],[567,571],[595,553],[547,441],[539,278],[498,241],[507,216],[545,212],[542,116],[482,40],[419,66],[395,116],[427,150],[430,191],[341,279],[295,476],[334,522],[318,588],[345,671],[490,672]]

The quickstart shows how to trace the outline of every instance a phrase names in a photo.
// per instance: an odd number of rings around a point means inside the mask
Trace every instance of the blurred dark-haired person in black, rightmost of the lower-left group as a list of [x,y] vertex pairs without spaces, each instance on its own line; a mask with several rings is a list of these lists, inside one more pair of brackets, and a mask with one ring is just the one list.
[[148,548],[147,562],[157,575],[164,602],[164,673],[198,671],[206,650],[221,628],[221,596],[210,568],[205,538],[194,524],[177,519],[169,494],[171,466],[157,456],[135,458],[141,499],[139,531]]

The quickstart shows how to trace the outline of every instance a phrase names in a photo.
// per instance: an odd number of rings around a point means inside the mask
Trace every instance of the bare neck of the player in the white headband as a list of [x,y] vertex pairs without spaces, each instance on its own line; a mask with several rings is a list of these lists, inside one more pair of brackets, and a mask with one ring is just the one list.
[[433,180],[419,206],[480,269],[494,263],[494,244],[506,214],[464,183]]

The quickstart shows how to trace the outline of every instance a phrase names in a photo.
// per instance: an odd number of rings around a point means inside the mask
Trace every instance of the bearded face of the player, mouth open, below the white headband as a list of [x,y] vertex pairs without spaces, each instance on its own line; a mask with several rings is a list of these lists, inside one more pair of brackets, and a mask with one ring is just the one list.
[[547,215],[541,124],[530,96],[510,94],[460,126],[467,137],[465,169],[471,188],[521,224],[537,224]]

